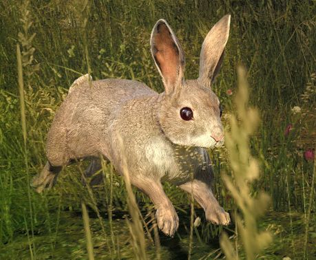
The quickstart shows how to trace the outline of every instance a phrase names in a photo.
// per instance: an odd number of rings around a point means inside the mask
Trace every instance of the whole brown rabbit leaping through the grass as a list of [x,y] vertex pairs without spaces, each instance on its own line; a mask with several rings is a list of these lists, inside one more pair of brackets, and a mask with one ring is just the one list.
[[213,224],[228,225],[211,191],[213,171],[207,148],[224,144],[220,101],[211,89],[229,38],[231,16],[209,31],[200,52],[199,76],[185,80],[185,54],[164,19],[154,25],[150,45],[165,91],[158,94],[136,80],[92,81],[85,75],[72,85],[48,133],[48,162],[32,186],[52,187],[63,166],[92,159],[85,174],[101,169],[100,158],[149,196],[158,228],[173,236],[179,219],[162,188],[169,182],[204,208]]

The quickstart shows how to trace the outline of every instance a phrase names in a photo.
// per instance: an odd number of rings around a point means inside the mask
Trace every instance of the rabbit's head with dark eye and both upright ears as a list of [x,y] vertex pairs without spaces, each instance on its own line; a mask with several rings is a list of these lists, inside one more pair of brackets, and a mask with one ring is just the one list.
[[204,39],[197,80],[184,79],[185,55],[168,23],[159,20],[151,32],[151,54],[165,87],[158,120],[174,144],[215,147],[224,143],[220,100],[211,84],[223,60],[230,19],[230,15],[223,17]]

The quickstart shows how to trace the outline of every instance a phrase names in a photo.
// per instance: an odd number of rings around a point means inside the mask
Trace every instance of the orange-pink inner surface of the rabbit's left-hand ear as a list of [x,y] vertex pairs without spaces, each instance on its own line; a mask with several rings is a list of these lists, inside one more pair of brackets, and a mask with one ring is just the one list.
[[164,23],[157,26],[154,38],[155,59],[167,85],[173,85],[178,78],[179,51]]

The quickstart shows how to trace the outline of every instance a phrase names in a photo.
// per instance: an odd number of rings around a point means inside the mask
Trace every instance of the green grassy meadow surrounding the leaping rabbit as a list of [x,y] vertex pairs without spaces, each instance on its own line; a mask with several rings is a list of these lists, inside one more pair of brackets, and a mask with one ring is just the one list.
[[[180,218],[166,237],[149,199],[110,164],[94,188],[82,184],[84,161],[49,191],[30,187],[76,78],[161,92],[149,47],[160,18],[185,51],[185,78],[197,78],[204,36],[224,14],[231,31],[213,90],[228,142],[209,153],[230,226],[208,223],[166,183]],[[315,1],[1,0],[0,28],[0,259],[316,259]]]

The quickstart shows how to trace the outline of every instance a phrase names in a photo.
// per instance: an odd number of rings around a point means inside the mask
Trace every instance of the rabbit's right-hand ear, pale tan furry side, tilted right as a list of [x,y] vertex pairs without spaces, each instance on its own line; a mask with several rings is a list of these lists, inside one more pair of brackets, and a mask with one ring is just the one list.
[[229,38],[231,15],[225,15],[209,31],[202,44],[198,81],[211,87],[224,58],[224,48]]

